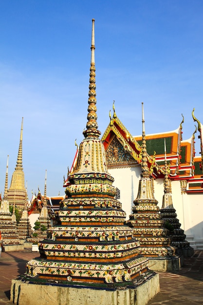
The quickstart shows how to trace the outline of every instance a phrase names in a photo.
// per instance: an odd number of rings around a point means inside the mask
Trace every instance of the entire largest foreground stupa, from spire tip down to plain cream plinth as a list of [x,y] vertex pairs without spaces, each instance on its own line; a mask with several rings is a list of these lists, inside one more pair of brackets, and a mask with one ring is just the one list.
[[124,225],[126,213],[114,198],[97,126],[94,49],[92,19],[87,129],[68,174],[59,223],[38,243],[40,257],[12,282],[14,304],[144,305],[159,291],[158,275],[139,254],[139,242]]

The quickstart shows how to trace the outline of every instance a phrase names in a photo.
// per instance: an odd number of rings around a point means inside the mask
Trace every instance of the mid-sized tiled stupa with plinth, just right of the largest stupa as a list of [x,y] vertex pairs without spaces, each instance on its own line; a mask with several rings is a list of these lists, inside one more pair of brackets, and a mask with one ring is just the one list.
[[171,263],[172,258],[177,259],[174,256],[175,249],[170,246],[170,239],[166,236],[167,229],[164,227],[157,206],[158,201],[154,198],[153,180],[148,169],[143,103],[141,170],[138,194],[132,208],[133,214],[129,216],[127,224],[134,229],[134,236],[141,246],[139,253],[149,258],[150,268],[156,271],[179,268],[179,265]]

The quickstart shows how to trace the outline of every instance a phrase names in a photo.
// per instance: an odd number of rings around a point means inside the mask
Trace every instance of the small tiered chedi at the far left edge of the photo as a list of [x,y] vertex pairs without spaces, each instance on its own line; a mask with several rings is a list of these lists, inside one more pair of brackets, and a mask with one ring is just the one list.
[[23,249],[20,247],[18,232],[16,227],[15,205],[13,206],[13,214],[9,210],[8,201],[8,157],[6,165],[6,178],[3,200],[0,206],[0,231],[2,235],[2,243],[5,251],[14,251]]

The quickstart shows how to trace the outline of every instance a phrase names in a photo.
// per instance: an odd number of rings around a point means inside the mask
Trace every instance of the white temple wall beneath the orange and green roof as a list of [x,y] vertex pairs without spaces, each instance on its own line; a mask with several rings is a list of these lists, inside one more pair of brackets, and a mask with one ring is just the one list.
[[[113,176],[113,186],[120,190],[122,208],[126,212],[126,219],[132,213],[133,200],[137,197],[141,168],[109,169]],[[177,218],[184,229],[186,240],[195,249],[203,249],[203,194],[181,193],[180,181],[171,182],[173,207]],[[154,197],[158,206],[162,208],[164,195],[164,180],[154,180]]]

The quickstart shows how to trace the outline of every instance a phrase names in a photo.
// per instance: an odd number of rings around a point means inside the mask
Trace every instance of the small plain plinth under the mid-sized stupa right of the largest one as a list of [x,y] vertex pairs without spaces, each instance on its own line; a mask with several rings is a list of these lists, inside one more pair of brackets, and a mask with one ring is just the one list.
[[148,268],[157,272],[178,271],[184,264],[184,256],[154,257],[149,259]]

